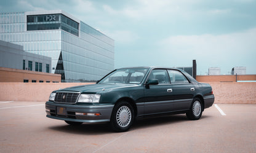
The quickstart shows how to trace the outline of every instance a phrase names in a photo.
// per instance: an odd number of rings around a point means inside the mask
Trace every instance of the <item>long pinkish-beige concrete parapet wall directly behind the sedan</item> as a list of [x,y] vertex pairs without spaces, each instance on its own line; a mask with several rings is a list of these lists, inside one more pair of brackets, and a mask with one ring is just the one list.
[[[215,103],[256,104],[256,82],[208,82]],[[92,83],[12,83],[0,82],[0,101],[47,101],[52,91]]]

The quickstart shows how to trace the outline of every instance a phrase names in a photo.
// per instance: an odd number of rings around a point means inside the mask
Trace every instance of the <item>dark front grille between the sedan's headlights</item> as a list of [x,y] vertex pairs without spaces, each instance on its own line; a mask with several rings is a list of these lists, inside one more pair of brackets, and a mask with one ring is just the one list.
[[54,98],[54,102],[74,104],[78,100],[79,94],[80,93],[73,92],[57,92]]

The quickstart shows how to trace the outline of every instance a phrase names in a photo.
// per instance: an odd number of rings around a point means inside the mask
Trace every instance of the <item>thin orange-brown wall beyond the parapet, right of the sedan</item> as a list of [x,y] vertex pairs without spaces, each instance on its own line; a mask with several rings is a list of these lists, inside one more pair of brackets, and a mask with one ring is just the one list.
[[[256,75],[238,75],[238,80],[256,80]],[[236,75],[196,76],[199,82],[236,82]]]

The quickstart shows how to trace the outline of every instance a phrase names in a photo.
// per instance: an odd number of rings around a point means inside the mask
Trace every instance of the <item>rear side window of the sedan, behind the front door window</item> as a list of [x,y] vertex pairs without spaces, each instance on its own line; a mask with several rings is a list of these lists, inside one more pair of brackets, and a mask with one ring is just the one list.
[[169,76],[170,76],[170,83],[171,84],[189,84],[188,79],[186,79],[185,76],[183,76],[180,71],[177,70],[168,70]]

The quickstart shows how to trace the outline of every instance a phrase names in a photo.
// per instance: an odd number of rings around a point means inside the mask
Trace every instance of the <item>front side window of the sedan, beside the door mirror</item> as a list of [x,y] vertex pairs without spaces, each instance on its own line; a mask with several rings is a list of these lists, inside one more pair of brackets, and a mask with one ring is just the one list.
[[166,69],[153,69],[148,79],[158,79],[159,84],[170,84]]

